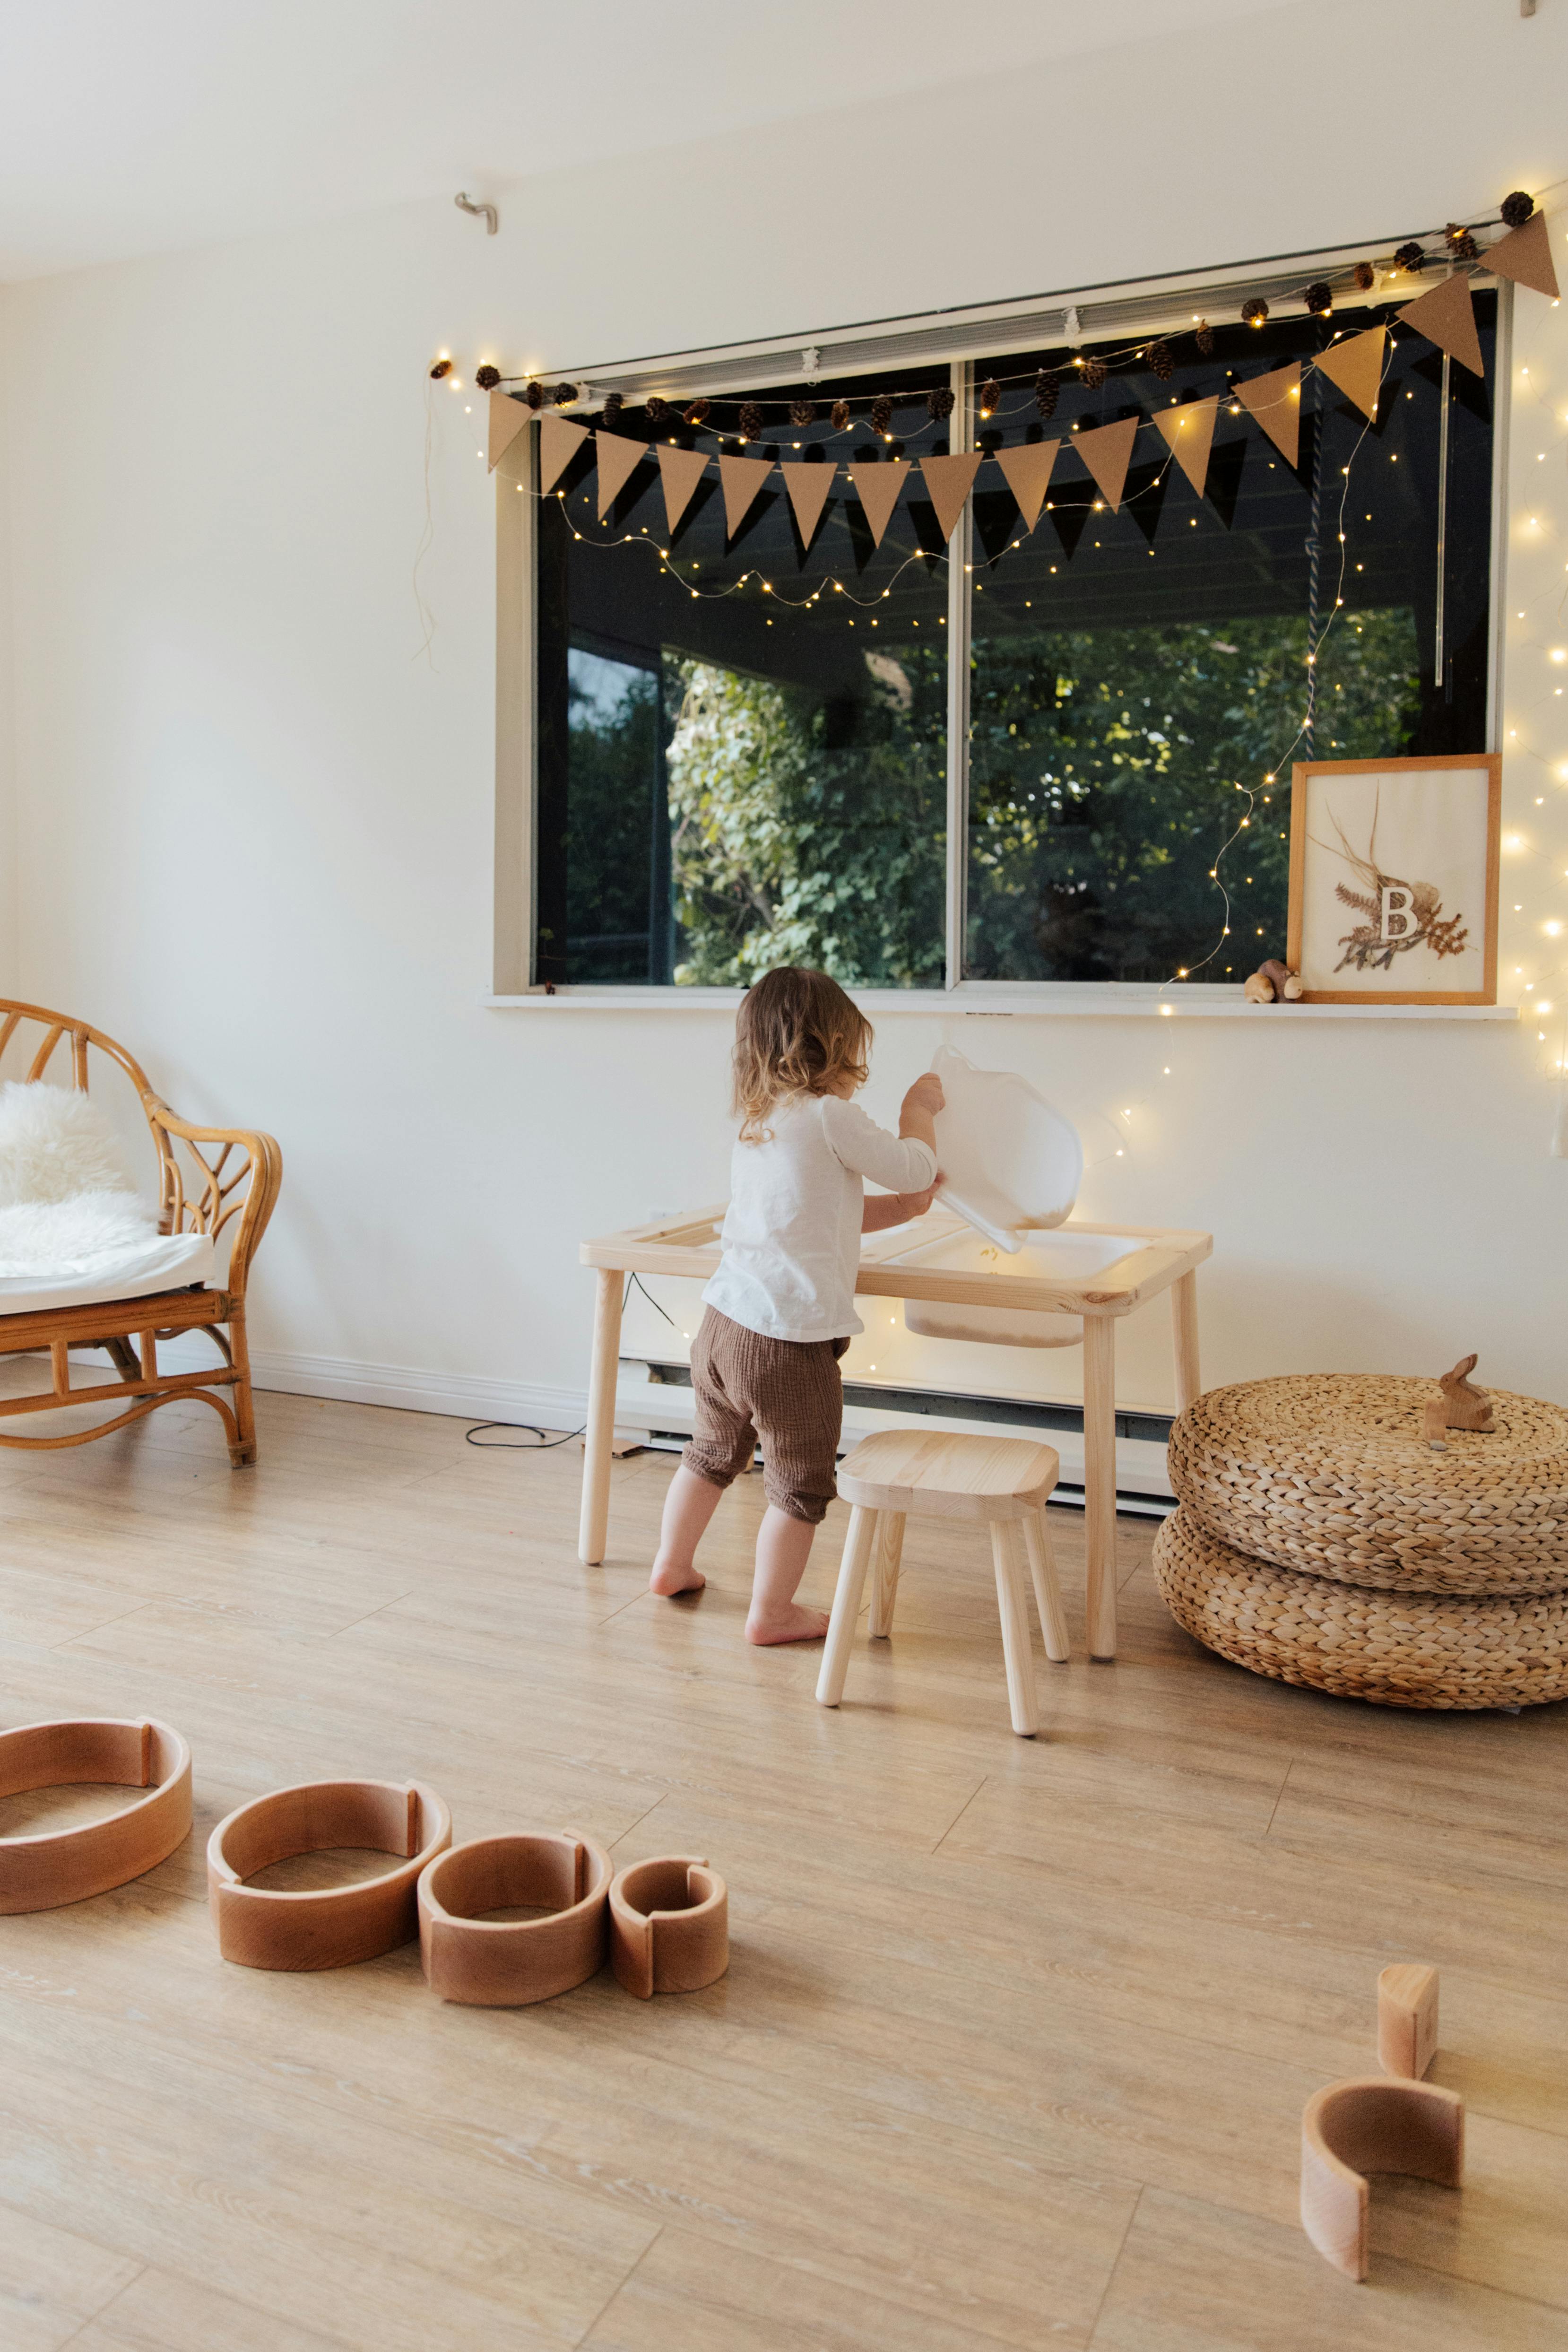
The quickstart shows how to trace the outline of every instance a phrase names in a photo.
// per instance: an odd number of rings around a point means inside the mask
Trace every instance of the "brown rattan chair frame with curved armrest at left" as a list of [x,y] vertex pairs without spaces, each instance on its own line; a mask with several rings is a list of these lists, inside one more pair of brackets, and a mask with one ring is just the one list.
[[[35,1030],[42,1037],[26,1063],[26,1049]],[[235,1468],[256,1461],[256,1414],[252,1402],[252,1369],[244,1341],[244,1284],[249,1279],[256,1244],[277,1202],[282,1183],[282,1152],[273,1136],[242,1127],[197,1127],[179,1120],[162,1103],[148,1082],[146,1070],[132,1061],[122,1044],[73,1021],[71,1014],[52,1014],[40,1004],[19,1004],[0,997],[0,1063],[16,1047],[19,1058],[0,1075],[42,1080],[56,1049],[71,1044],[71,1084],[87,1091],[87,1056],[96,1049],[113,1061],[136,1089],[141,1112],[148,1122],[153,1150],[158,1152],[158,1228],[165,1235],[205,1232],[214,1242],[228,1235],[228,1268],[221,1287],[193,1284],[188,1289],[155,1291],[148,1298],[106,1298],[89,1305],[47,1308],[42,1312],[0,1315],[0,1355],[49,1352],[52,1385],[38,1395],[0,1397],[0,1423],[19,1414],[49,1414],[63,1404],[115,1404],[113,1418],[99,1421],[89,1430],[73,1430],[63,1437],[21,1437],[0,1428],[5,1446],[82,1446],[94,1437],[108,1437],[160,1404],[176,1397],[200,1397],[219,1414],[228,1458]],[[207,1331],[219,1350],[219,1362],[202,1371],[158,1369],[158,1341],[183,1331]],[[89,1381],[71,1385],[71,1350],[101,1348],[115,1364],[118,1381]],[[226,1395],[223,1395],[226,1392]]]

